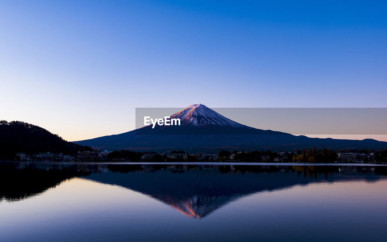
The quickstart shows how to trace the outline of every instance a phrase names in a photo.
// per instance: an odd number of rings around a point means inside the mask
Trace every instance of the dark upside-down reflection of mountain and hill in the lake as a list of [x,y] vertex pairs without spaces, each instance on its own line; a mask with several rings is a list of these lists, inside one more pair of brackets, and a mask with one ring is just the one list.
[[82,177],[137,191],[188,217],[204,218],[232,201],[262,191],[316,182],[373,182],[386,174],[385,166],[0,162],[0,201],[19,201]]

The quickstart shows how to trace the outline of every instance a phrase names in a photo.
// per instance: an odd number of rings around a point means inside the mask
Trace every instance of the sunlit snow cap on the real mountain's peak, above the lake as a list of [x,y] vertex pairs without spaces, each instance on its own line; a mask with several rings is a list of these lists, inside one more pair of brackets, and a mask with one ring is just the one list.
[[250,128],[246,125],[234,122],[219,113],[215,112],[211,108],[207,108],[202,104],[190,105],[178,113],[175,113],[171,118],[180,118],[180,122],[183,125],[201,126],[201,125],[221,125],[231,126],[235,128]]

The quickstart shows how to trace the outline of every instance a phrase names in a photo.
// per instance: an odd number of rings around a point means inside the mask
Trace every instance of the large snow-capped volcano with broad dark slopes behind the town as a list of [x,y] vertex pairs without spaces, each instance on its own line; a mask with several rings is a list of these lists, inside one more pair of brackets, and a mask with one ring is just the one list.
[[230,120],[202,104],[190,105],[171,118],[180,118],[180,126],[152,125],[130,132],[108,135],[76,144],[108,150],[170,151],[188,153],[228,150],[294,151],[309,147],[329,149],[383,149],[387,142],[374,139],[343,140],[309,138],[273,130],[248,127]]

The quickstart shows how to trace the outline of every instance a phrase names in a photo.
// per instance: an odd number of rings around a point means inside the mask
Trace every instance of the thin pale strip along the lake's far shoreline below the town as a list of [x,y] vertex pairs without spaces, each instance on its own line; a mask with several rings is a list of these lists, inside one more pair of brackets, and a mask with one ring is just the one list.
[[274,162],[95,162],[95,161],[2,161],[0,162],[33,162],[33,163],[55,163],[55,164],[117,164],[117,165],[228,165],[228,166],[387,166],[387,164],[375,164],[375,163],[274,163]]

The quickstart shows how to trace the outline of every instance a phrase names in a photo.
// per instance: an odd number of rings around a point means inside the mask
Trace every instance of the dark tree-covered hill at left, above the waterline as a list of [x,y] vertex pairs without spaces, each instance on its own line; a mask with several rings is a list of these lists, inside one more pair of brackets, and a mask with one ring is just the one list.
[[0,159],[14,159],[17,152],[76,154],[78,151],[91,150],[88,146],[63,140],[36,125],[20,121],[0,121]]

